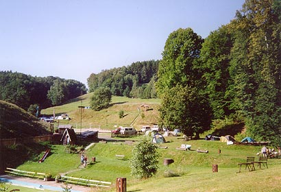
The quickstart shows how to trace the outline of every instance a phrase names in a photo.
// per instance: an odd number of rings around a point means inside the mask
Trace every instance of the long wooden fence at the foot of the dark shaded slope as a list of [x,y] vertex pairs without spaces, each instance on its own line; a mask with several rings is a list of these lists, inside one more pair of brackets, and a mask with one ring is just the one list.
[[3,146],[16,145],[19,143],[39,143],[42,141],[52,141],[53,135],[41,135],[33,137],[21,137],[21,138],[12,138],[12,139],[0,139],[0,143]]

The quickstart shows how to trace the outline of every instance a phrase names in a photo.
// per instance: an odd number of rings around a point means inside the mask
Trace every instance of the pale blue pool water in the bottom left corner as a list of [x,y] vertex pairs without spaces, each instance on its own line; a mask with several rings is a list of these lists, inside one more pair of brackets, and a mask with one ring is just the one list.
[[[13,180],[13,179],[6,179],[6,178],[0,178],[2,182],[10,182],[12,185],[16,186],[21,186],[21,187],[28,187],[28,188],[33,188],[33,189],[38,189],[38,190],[51,190],[51,191],[62,191],[62,187],[53,187],[47,184],[35,184],[32,182],[23,182],[19,180]],[[82,191],[75,191],[71,189],[72,192],[82,192]]]

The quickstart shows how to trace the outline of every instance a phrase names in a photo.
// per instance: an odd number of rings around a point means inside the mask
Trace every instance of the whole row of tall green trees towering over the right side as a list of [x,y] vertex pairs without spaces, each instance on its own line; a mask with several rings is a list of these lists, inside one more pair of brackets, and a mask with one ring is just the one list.
[[280,12],[281,1],[246,0],[206,39],[191,28],[172,32],[156,82],[162,125],[199,136],[215,119],[232,119],[248,136],[280,145]]

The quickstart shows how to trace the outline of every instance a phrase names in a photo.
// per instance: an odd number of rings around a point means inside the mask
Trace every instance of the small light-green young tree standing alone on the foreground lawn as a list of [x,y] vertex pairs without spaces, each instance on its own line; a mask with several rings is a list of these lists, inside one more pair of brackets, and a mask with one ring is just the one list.
[[158,169],[158,147],[151,142],[149,136],[140,137],[140,140],[132,149],[130,167],[132,175],[136,178],[150,178]]

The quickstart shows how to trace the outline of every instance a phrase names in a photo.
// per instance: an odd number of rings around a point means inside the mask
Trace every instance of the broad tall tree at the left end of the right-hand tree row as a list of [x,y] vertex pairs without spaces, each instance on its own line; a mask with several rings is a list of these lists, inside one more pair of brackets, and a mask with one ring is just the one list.
[[162,98],[161,123],[172,129],[182,128],[188,136],[198,136],[210,125],[204,82],[197,69],[203,41],[191,28],[172,32],[158,67],[156,88]]

